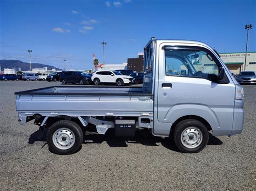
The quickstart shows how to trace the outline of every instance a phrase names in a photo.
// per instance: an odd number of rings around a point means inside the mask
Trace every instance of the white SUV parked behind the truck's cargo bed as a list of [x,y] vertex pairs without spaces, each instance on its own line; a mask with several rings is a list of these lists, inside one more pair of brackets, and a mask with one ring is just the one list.
[[123,75],[117,71],[104,70],[96,72],[92,75],[93,83],[98,86],[100,83],[116,83],[117,86],[132,83],[131,76]]

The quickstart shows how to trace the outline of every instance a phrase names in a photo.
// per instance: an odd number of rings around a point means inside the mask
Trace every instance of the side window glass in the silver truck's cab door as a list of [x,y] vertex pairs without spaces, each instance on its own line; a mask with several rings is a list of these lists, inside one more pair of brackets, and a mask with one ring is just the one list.
[[219,66],[214,55],[204,49],[165,49],[166,75],[217,80]]

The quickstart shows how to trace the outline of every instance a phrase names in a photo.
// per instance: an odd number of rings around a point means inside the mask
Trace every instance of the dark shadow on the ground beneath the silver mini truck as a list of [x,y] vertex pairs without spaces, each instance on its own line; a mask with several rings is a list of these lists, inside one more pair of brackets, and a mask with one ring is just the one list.
[[[29,138],[29,144],[35,142],[46,142],[47,130],[44,129],[43,136],[38,137],[39,131],[33,132]],[[110,147],[127,147],[127,144],[142,144],[146,146],[160,146],[168,148],[169,150],[179,152],[170,138],[162,139],[160,137],[154,137],[149,135],[147,137],[140,135],[139,133],[135,137],[116,137],[114,131],[109,129],[105,135],[85,135],[83,144],[102,144],[106,142]],[[209,133],[209,141],[207,145],[222,145],[223,142],[211,133]],[[42,146],[42,148],[45,144]]]

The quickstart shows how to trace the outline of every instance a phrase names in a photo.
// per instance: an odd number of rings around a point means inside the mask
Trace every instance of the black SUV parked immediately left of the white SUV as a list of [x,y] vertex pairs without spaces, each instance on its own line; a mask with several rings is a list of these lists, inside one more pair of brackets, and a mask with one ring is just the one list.
[[84,73],[84,72],[78,72],[78,71],[68,71],[63,72],[60,77],[59,81],[62,82],[62,84],[66,83],[79,83],[81,85],[87,83],[91,83],[91,75]]

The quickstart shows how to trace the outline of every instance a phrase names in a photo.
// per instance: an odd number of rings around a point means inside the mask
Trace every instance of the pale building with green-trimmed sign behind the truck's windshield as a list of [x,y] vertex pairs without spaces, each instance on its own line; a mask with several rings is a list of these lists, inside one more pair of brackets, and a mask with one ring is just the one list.
[[256,52],[247,52],[245,65],[245,52],[221,53],[220,58],[228,69],[234,74],[244,71],[256,72]]

